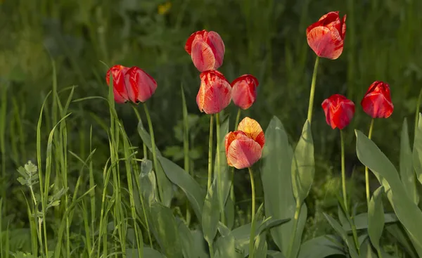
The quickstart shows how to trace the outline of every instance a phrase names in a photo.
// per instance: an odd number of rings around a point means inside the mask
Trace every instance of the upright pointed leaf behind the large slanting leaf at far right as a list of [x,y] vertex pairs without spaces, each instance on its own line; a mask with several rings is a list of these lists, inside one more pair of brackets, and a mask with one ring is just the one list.
[[[419,138],[421,137],[418,136],[418,140]],[[406,118],[404,118],[403,121],[402,137],[400,139],[400,178],[402,179],[407,194],[417,205],[419,202],[419,195],[416,190],[416,176],[414,173]]]

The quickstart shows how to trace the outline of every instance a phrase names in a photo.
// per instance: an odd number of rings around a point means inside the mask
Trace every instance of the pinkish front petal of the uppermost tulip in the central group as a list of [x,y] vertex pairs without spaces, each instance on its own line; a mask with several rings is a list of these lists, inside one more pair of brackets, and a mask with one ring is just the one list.
[[214,70],[215,56],[211,47],[203,39],[195,39],[192,44],[193,65],[200,71]]

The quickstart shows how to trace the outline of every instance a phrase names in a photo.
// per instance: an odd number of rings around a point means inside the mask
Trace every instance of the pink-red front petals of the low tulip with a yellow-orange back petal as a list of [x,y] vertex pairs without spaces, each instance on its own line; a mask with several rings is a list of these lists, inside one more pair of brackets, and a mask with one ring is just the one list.
[[262,147],[256,141],[245,135],[238,134],[226,152],[227,163],[236,167],[236,169],[244,169],[251,167],[262,156]]

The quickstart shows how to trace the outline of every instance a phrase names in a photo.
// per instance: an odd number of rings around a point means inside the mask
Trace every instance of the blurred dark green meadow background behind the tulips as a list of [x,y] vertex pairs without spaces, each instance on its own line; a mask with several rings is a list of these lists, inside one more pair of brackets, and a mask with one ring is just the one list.
[[[376,120],[373,139],[397,164],[402,122],[408,118],[412,136],[422,87],[421,10],[420,0],[0,1],[0,106],[6,117],[0,121],[1,164],[6,171],[1,187],[15,200],[8,214],[18,217],[15,224],[25,224],[25,200],[15,181],[15,169],[27,160],[35,162],[37,120],[53,84],[52,63],[63,100],[72,85],[77,86],[75,98],[106,96],[104,78],[111,65],[137,65],[150,73],[158,82],[155,95],[148,101],[157,143],[176,161],[181,158],[180,89],[184,86],[193,125],[191,159],[198,180],[205,181],[208,118],[198,116],[195,98],[199,72],[184,51],[189,35],[203,29],[221,35],[226,54],[219,70],[229,81],[245,73],[260,81],[257,102],[243,115],[255,118],[263,128],[276,115],[295,143],[307,115],[315,60],[305,29],[328,11],[340,11],[342,16],[347,14],[345,49],[338,60],[320,61],[316,82],[312,131],[317,168],[307,202],[314,214],[309,226],[317,227],[319,208],[336,207],[340,171],[340,135],[326,124],[320,103],[333,93],[344,94],[356,103],[354,120],[345,129],[346,162],[352,178],[352,201],[363,203],[363,168],[354,152],[353,130],[368,131],[370,118],[359,103],[373,81],[390,84],[395,110],[388,120]],[[97,149],[94,164],[101,178],[109,155],[104,130],[108,126],[107,105],[99,100],[83,101],[72,103],[70,110],[69,150],[87,158],[92,125]],[[132,108],[119,105],[118,112],[132,143],[141,144]],[[226,112],[234,120],[233,104]],[[47,107],[44,140],[53,126],[53,116]],[[74,157],[70,159],[76,180],[80,164]],[[239,195],[249,190],[247,174],[237,173],[236,182],[243,180],[245,183],[236,184]]]

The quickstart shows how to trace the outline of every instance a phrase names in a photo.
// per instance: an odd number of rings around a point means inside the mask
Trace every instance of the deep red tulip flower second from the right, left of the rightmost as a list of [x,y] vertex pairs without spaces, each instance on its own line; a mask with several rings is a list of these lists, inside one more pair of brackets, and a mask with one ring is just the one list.
[[326,114],[326,121],[331,128],[343,129],[347,127],[354,115],[354,103],[340,94],[334,94],[322,103]]

